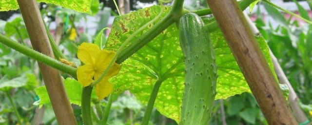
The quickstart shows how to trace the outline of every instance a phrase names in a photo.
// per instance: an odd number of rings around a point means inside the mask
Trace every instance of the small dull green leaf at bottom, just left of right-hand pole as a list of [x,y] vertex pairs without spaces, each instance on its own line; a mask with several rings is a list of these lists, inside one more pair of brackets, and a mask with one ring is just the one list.
[[255,124],[255,118],[258,114],[256,108],[246,108],[242,112],[239,112],[239,116],[243,118],[247,123]]

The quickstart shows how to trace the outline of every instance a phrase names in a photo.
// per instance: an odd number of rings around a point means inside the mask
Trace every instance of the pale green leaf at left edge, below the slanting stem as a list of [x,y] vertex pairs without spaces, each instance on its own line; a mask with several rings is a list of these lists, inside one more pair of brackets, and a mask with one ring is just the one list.
[[0,79],[0,91],[8,91],[12,88],[25,86],[27,81],[26,79],[25,75],[12,80],[9,80],[7,76],[4,76]]

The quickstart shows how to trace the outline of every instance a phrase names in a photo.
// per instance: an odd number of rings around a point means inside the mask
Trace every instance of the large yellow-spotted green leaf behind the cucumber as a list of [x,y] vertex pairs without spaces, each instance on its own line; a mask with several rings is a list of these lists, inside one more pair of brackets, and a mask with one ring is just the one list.
[[[106,43],[106,49],[116,51],[129,35],[154,19],[159,12],[159,6],[152,6],[117,17]],[[168,9],[164,11],[163,16],[166,13],[168,13]],[[139,34],[147,31],[154,24]],[[260,37],[256,37],[256,39],[273,71],[266,42]],[[215,47],[216,62],[219,66],[215,99],[226,99],[235,94],[250,92],[222,33],[220,31],[211,33],[211,40]],[[154,106],[160,113],[178,122],[185,77],[183,60],[178,29],[176,24],[173,24],[123,62],[119,74],[110,80],[114,83],[114,94],[130,90],[141,103],[147,104],[156,80],[164,80],[159,88]]]

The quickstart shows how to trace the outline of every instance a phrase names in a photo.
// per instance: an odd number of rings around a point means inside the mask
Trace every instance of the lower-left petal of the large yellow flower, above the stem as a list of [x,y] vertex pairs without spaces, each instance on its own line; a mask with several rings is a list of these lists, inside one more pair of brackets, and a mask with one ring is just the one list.
[[83,86],[88,86],[94,80],[92,79],[94,76],[93,67],[89,64],[79,66],[77,69],[77,78],[78,82],[81,83]]

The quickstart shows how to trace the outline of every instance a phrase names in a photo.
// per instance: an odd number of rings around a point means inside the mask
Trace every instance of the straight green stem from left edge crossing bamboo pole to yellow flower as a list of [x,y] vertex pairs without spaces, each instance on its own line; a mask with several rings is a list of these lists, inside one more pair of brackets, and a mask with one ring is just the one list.
[[71,67],[69,65],[66,65],[62,62],[59,62],[49,56],[46,56],[42,53],[39,53],[31,48],[28,48],[24,45],[21,45],[18,42],[15,42],[9,38],[6,38],[2,34],[0,34],[0,42],[3,43],[4,45],[7,45],[8,47],[11,47],[15,49],[16,51],[31,57],[39,62],[45,63],[53,68],[56,68],[62,72],[68,73],[69,75],[76,77],[77,76],[77,69],[74,67]]

